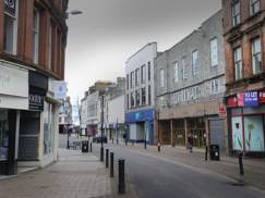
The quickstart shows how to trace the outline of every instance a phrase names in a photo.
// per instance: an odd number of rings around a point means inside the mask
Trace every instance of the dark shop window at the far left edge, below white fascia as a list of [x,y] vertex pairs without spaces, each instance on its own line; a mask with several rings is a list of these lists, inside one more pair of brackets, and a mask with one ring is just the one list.
[[8,151],[9,151],[8,111],[0,110],[0,160],[8,159]]

